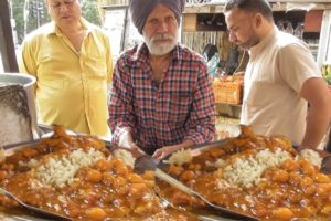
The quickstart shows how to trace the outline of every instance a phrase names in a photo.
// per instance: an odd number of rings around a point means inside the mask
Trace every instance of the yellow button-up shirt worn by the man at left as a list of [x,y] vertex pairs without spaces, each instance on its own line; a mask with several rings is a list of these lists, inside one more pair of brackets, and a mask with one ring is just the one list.
[[77,52],[51,22],[26,36],[20,71],[36,77],[39,120],[108,136],[107,86],[113,61],[106,33],[82,19],[85,36]]

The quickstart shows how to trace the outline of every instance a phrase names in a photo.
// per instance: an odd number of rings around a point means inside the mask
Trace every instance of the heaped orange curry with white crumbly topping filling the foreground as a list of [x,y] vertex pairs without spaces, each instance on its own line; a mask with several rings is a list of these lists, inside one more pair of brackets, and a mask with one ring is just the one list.
[[97,137],[68,134],[62,127],[42,139],[4,146],[0,217],[331,218],[330,157],[322,160],[313,150],[298,154],[282,136],[264,137],[242,127],[238,137],[179,150],[154,167],[145,165],[145,171],[136,170],[140,159]]

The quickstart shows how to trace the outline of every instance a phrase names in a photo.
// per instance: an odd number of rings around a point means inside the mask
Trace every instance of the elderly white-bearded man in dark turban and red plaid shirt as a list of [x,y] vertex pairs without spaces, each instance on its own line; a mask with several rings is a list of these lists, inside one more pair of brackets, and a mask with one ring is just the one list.
[[215,105],[202,56],[178,43],[184,0],[130,0],[145,43],[121,54],[109,103],[111,141],[162,159],[206,143],[215,133]]

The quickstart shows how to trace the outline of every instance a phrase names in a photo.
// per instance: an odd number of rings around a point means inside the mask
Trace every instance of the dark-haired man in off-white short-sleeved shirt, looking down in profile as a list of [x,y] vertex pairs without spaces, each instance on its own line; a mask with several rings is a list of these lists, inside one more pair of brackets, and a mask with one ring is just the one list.
[[229,0],[225,20],[229,40],[249,51],[242,124],[316,149],[331,122],[331,95],[309,48],[277,29],[266,0]]

